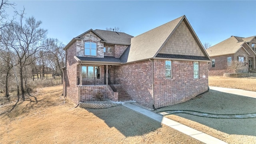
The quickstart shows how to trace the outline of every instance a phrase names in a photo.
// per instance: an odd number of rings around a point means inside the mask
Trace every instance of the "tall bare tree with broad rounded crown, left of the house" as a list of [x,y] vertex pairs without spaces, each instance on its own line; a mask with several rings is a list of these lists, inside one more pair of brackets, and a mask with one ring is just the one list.
[[[34,17],[25,18],[24,10],[21,14],[17,13],[20,17],[19,22],[13,22],[9,27],[12,30],[12,38],[8,41],[8,45],[18,57],[18,64],[20,68],[20,90],[22,100],[25,100],[24,85],[23,85],[23,68],[31,64],[34,59],[32,56],[44,48],[43,40],[46,38],[47,30],[40,28],[41,21],[36,21]],[[25,22],[24,22],[25,19]]]

